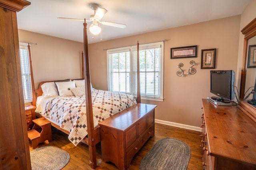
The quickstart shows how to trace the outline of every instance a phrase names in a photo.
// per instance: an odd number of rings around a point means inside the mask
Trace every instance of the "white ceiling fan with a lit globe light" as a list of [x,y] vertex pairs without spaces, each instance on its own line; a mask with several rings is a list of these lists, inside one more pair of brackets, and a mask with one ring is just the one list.
[[[98,26],[98,23],[101,23],[102,25],[109,25],[112,27],[118,27],[118,28],[125,28],[126,25],[121,24],[121,23],[114,23],[114,22],[108,22],[108,21],[100,21],[101,18],[108,12],[104,8],[99,8],[98,4],[90,4],[90,7],[92,10],[94,10],[94,15],[90,16],[90,21],[92,22],[92,25],[90,25],[89,30],[92,34],[98,35],[101,31],[101,28]],[[78,20],[78,21],[84,21],[82,19],[76,19],[76,18],[62,18],[58,17],[60,19],[69,19],[69,20]]]

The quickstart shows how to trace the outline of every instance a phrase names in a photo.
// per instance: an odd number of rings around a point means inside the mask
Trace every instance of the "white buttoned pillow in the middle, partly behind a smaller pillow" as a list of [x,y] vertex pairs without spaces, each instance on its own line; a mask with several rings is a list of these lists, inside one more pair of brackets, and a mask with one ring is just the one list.
[[70,82],[55,82],[60,96],[74,96],[71,91],[72,88],[76,88],[74,81]]

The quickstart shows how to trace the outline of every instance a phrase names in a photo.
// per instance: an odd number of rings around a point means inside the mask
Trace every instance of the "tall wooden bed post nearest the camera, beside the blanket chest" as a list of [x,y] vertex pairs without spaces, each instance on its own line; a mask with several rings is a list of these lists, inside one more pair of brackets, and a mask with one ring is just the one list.
[[96,160],[96,144],[94,137],[94,121],[92,113],[92,94],[90,88],[90,71],[89,71],[89,56],[88,56],[88,39],[87,39],[87,23],[84,19],[84,81],[85,81],[85,98],[86,98],[86,117],[88,131],[88,147],[90,156],[90,166],[92,169],[97,167]]

